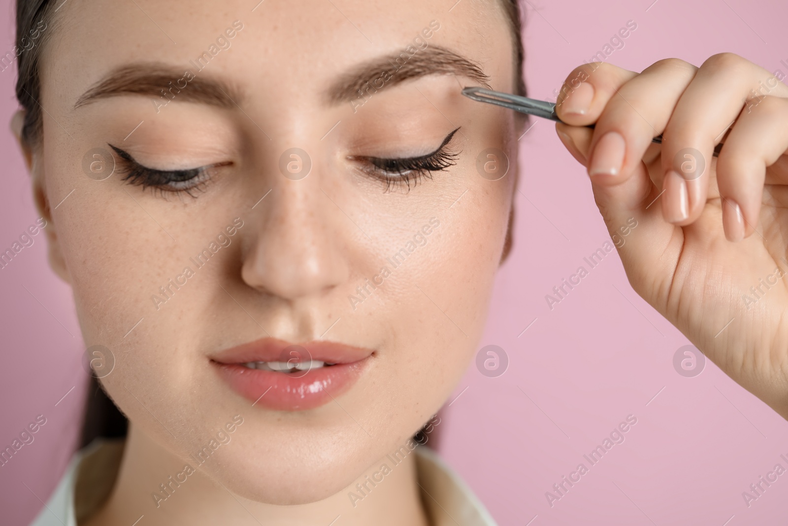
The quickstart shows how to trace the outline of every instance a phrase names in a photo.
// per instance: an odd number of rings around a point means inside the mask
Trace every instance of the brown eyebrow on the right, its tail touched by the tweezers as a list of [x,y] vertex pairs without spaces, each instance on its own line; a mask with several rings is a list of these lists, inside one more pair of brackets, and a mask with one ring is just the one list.
[[[386,73],[390,75],[388,80],[385,79]],[[435,74],[467,76],[485,88],[492,89],[488,84],[490,77],[481,69],[481,65],[445,47],[433,45],[423,50],[417,49],[414,54],[407,51],[384,54],[355,65],[342,73],[325,90],[324,95],[329,104],[352,102],[364,98],[370,90],[376,93],[403,80]],[[375,80],[379,82],[375,83]]]

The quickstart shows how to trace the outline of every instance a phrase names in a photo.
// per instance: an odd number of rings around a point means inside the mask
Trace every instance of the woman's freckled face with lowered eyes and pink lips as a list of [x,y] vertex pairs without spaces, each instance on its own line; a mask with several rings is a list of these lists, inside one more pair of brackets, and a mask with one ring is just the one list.
[[[254,4],[65,4],[33,173],[132,423],[191,463],[240,415],[204,469],[313,502],[413,435],[474,354],[519,133],[460,95],[482,84],[459,59],[501,91],[515,65],[493,2]],[[304,353],[335,365],[266,370]]]

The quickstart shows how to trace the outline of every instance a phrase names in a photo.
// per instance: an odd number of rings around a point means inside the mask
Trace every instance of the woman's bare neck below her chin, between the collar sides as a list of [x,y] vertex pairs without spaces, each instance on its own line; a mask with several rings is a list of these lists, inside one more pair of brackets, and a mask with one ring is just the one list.
[[[367,476],[381,464],[392,468],[382,483],[372,485]],[[232,494],[210,479],[199,467],[186,482],[176,485],[169,476],[181,472],[184,459],[154,442],[129,424],[123,460],[113,491],[105,505],[84,526],[135,524],[140,516],[146,526],[169,524],[413,524],[427,526],[419,497],[415,456],[399,464],[388,457],[370,468],[343,491],[319,502],[274,505]],[[161,484],[169,483],[169,492]],[[360,486],[357,486],[360,484]],[[359,490],[359,487],[362,488]],[[366,488],[366,489],[364,489]],[[155,498],[154,493],[166,498]],[[339,522],[337,520],[337,522]],[[80,526],[83,526],[80,524]]]

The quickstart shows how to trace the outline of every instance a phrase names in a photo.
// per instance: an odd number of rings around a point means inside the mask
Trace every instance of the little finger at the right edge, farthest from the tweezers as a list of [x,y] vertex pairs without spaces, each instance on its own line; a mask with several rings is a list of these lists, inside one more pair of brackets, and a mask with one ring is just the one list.
[[743,110],[717,160],[717,186],[723,199],[723,228],[729,241],[755,230],[760,216],[767,166],[788,149],[788,99],[767,96]]

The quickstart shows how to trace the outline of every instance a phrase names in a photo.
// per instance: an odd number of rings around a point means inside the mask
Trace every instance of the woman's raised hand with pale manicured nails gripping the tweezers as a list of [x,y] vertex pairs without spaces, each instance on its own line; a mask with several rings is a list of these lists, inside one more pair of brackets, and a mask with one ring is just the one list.
[[643,73],[585,64],[556,130],[611,235],[637,219],[619,248],[635,291],[788,419],[788,87],[776,73],[730,53]]

